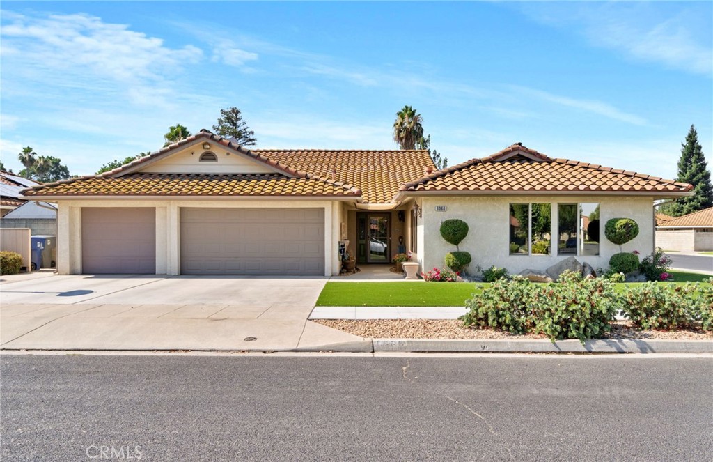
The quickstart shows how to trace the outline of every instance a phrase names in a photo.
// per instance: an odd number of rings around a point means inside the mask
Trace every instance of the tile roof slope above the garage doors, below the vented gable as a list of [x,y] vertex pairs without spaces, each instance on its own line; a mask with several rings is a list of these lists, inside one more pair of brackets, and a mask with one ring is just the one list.
[[359,196],[337,181],[282,174],[85,176],[36,186],[25,196]]

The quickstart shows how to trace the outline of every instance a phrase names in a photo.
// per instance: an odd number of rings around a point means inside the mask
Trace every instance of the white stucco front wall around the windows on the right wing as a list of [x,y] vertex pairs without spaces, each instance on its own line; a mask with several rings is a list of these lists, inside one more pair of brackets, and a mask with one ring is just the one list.
[[[552,207],[552,235],[557,235],[557,204],[598,203],[602,224],[600,254],[598,256],[576,256],[580,262],[588,262],[594,268],[607,268],[609,258],[619,252],[619,246],[604,237],[604,223],[608,219],[627,217],[639,224],[639,235],[622,246],[622,251],[640,251],[645,256],[653,250],[653,201],[650,197],[612,197],[612,196],[538,196],[536,199],[523,196],[481,196],[455,197],[431,196],[421,198],[423,235],[419,236],[419,256],[422,258],[421,269],[443,268],[443,257],[456,250],[455,246],[441,238],[441,222],[446,219],[461,219],[469,227],[468,236],[460,244],[461,250],[468,251],[473,257],[471,267],[476,265],[487,268],[491,265],[505,267],[510,273],[519,273],[525,268],[544,270],[569,255],[510,255],[510,214],[511,203],[550,203]],[[438,212],[436,206],[445,205],[447,211]],[[420,230],[419,230],[420,232]],[[553,248],[556,246],[553,245]]]

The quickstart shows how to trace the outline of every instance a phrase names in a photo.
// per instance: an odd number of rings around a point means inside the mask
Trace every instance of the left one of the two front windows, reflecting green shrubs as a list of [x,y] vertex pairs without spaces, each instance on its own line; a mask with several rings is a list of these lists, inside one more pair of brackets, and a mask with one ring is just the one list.
[[551,204],[510,204],[510,254],[550,255]]

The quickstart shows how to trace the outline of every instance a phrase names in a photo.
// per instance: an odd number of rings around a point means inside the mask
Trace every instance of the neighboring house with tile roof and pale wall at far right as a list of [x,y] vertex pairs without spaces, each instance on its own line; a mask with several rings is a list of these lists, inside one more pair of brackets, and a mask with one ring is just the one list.
[[713,207],[657,223],[656,245],[665,250],[713,251]]

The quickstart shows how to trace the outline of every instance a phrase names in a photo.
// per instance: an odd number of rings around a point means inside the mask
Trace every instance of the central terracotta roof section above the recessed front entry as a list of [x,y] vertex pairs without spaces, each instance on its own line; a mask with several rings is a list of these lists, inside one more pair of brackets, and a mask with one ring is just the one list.
[[260,149],[253,151],[280,165],[334,178],[361,189],[364,202],[387,204],[402,184],[436,170],[428,151],[336,151]]

